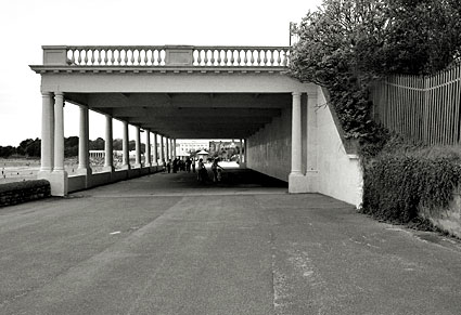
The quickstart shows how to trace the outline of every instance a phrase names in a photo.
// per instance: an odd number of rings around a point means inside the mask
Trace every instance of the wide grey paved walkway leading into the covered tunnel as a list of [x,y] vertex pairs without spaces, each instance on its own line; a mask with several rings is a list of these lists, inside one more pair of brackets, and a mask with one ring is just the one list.
[[154,174],[0,209],[0,314],[461,314],[461,245]]

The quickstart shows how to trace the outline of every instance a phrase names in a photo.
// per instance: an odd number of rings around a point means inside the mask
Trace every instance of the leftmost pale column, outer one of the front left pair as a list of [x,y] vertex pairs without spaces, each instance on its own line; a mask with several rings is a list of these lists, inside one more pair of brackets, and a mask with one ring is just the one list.
[[51,92],[43,92],[41,97],[41,165],[38,178],[47,179],[53,170],[54,102]]

